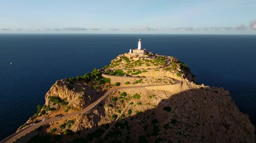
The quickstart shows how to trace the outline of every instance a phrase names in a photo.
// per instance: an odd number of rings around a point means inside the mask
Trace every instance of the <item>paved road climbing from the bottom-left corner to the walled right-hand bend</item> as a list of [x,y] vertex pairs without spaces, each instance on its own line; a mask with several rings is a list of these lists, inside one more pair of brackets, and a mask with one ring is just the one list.
[[[175,80],[175,83],[173,84],[177,84],[179,83],[179,80]],[[169,85],[169,84],[165,84],[165,85]],[[113,88],[113,89],[109,89],[102,97],[100,97],[98,100],[92,102],[92,104],[88,105],[87,107],[83,108],[83,110],[77,111],[75,113],[70,113],[70,114],[66,114],[65,116],[62,116],[60,118],[56,118],[56,117],[52,117],[46,121],[41,121],[35,125],[29,126],[28,128],[25,128],[23,130],[20,130],[20,132],[14,133],[13,135],[8,136],[7,138],[5,138],[4,140],[2,140],[0,143],[8,143],[8,142],[13,142],[16,139],[19,139],[21,136],[26,135],[26,133],[31,132],[34,129],[37,129],[40,126],[46,125],[47,123],[50,122],[54,122],[56,120],[60,120],[60,119],[65,119],[74,115],[78,115],[78,114],[82,114],[85,113],[86,111],[91,110],[91,108],[93,108],[95,105],[97,105],[101,100],[103,100],[105,97],[107,97],[107,95],[111,94],[112,92],[118,91],[120,89],[129,89],[129,88],[144,88],[146,86],[156,86],[156,85],[143,85],[143,86],[127,86],[127,87],[118,87],[118,88]],[[159,85],[162,86],[162,85]]]

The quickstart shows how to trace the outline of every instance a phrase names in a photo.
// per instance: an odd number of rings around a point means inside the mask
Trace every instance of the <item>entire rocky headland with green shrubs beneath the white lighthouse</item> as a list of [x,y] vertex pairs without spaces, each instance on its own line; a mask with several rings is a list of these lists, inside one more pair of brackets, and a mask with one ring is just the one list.
[[56,81],[45,98],[17,130],[51,119],[29,142],[255,142],[229,92],[197,85],[174,57],[121,54],[103,69]]

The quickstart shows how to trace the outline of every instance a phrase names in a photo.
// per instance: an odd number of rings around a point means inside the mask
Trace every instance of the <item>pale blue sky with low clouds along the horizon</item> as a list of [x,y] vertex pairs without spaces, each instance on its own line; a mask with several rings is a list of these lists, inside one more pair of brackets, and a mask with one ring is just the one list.
[[255,0],[0,0],[0,33],[256,34]]

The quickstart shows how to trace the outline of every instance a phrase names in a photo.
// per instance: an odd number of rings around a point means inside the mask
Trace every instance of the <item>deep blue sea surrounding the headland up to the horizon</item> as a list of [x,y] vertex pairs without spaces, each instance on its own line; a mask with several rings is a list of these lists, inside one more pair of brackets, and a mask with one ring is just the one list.
[[[0,140],[44,104],[53,83],[137,48],[173,55],[198,83],[230,91],[256,125],[256,35],[0,35]],[[10,65],[10,62],[13,64]]]

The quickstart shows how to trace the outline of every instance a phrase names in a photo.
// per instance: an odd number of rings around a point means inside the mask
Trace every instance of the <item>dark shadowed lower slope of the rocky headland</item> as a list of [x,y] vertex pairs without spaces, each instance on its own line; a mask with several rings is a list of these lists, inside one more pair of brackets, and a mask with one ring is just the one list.
[[[162,100],[155,108],[137,113],[132,110],[131,116],[125,114],[124,119],[98,126],[102,117],[109,116],[103,110],[104,104],[106,101],[92,109],[98,110],[97,114],[76,117],[78,124],[94,122],[92,128],[84,126],[72,135],[61,135],[59,140],[53,135],[47,142],[254,142],[255,138],[248,116],[240,113],[223,89],[183,91]],[[42,135],[44,132],[43,128]]]

